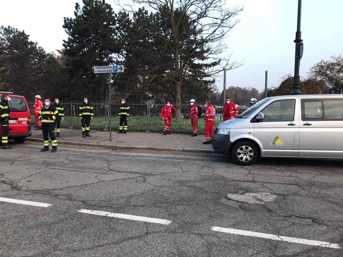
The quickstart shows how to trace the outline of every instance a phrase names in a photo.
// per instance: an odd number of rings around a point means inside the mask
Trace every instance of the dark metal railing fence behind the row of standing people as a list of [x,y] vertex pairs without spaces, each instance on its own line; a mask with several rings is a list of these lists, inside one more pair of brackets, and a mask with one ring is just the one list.
[[[129,131],[162,131],[164,127],[164,121],[161,118],[161,110],[163,106],[160,104],[151,103],[128,103],[130,106],[130,117],[128,122]],[[34,102],[28,102],[30,110],[33,110]],[[82,102],[61,102],[64,108],[64,121],[61,122],[62,127],[78,128],[81,127],[81,121],[79,119],[79,107]],[[111,103],[111,113],[109,113],[108,102],[91,102],[94,107],[94,118],[91,121],[91,127],[94,129],[109,129],[109,117],[111,120],[112,130],[118,130],[119,127],[119,108],[120,103]],[[204,104],[197,104],[201,106],[202,116],[198,119],[198,131],[200,134],[204,134],[204,112],[206,107]],[[215,106],[216,108],[216,124],[222,122],[223,106]],[[248,108],[246,105],[239,106],[239,113],[245,111]],[[181,105],[181,118],[172,119],[171,131],[179,133],[191,133],[192,126],[189,119],[189,105]],[[110,115],[109,115],[110,114]],[[175,114],[173,113],[173,116]],[[34,117],[32,117],[34,120]]]

